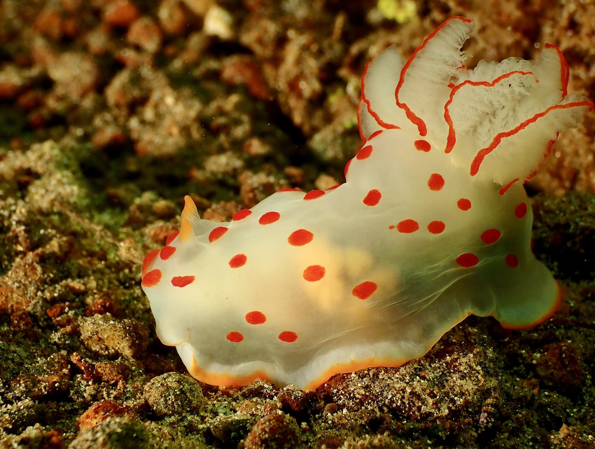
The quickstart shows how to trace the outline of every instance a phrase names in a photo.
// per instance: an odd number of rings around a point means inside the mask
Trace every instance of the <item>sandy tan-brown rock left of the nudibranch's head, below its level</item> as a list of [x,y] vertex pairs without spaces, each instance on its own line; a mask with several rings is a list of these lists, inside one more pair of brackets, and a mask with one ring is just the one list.
[[117,320],[106,313],[80,318],[79,326],[84,345],[102,356],[136,357],[148,344],[148,329],[133,319]]

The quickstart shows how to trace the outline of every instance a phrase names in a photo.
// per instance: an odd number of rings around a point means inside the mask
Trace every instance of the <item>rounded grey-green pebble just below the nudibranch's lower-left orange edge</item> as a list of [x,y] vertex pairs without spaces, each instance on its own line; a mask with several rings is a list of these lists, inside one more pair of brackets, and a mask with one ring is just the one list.
[[145,385],[145,399],[158,417],[198,413],[205,404],[201,385],[176,372],[151,379]]

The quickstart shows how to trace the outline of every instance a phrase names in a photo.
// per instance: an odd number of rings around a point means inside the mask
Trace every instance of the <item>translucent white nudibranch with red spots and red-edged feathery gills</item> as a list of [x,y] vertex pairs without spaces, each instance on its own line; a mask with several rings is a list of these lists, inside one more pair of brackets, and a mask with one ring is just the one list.
[[523,329],[555,312],[522,184],[593,103],[566,92],[553,45],[469,70],[471,30],[452,17],[406,61],[392,47],[368,64],[346,183],[280,190],[227,223],[186,197],[142,286],[195,378],[312,389],[420,357],[471,313]]

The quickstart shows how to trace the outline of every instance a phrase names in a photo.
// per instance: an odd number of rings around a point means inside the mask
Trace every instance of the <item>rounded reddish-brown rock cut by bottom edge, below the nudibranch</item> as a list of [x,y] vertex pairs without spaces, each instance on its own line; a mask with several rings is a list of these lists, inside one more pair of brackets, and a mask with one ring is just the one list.
[[271,413],[259,420],[246,435],[244,448],[297,447],[300,444],[299,434],[300,429],[295,419],[291,416]]

